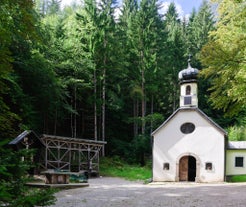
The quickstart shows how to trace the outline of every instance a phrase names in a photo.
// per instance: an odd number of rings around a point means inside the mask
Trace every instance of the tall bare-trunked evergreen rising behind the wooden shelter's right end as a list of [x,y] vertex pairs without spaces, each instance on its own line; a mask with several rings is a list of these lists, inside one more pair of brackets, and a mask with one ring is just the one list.
[[[106,122],[106,97],[107,97],[107,79],[112,74],[114,68],[114,6],[113,1],[101,1],[97,4],[95,1],[86,1],[84,13],[78,15],[81,21],[81,36],[89,44],[87,45],[90,58],[94,63],[94,113],[95,126],[98,112],[100,112],[100,134],[95,134],[95,138],[101,137],[105,140],[105,122]],[[82,31],[86,31],[87,34]],[[98,107],[100,104],[100,108]],[[95,129],[95,132],[99,132]]]

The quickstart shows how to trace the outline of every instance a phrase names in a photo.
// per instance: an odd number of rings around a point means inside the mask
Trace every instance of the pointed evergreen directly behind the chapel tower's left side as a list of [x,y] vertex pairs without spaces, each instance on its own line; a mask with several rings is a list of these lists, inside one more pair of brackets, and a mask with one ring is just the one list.
[[[165,83],[166,85],[166,103],[167,112],[170,114],[178,107],[178,81],[177,76],[180,69],[186,64],[187,57],[185,54],[185,38],[183,34],[181,20],[174,3],[169,5],[168,11],[164,18],[164,27],[166,33],[166,53],[165,58]],[[170,87],[170,84],[172,87]]]

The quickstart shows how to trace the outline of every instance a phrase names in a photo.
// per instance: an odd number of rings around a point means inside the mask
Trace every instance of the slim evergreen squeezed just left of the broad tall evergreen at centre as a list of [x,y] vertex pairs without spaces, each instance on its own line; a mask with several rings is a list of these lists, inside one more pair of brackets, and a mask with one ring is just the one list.
[[[130,96],[130,99],[127,98],[125,101],[130,102],[133,100],[133,104],[126,111],[127,114],[133,113],[133,117],[139,116],[138,102],[142,96],[140,86],[137,82],[137,54],[133,49],[133,36],[136,29],[134,19],[136,18],[137,12],[138,3],[135,0],[123,1],[122,15],[120,16],[118,23],[120,43],[122,45],[122,56],[124,57],[122,67],[124,68],[124,73],[126,74],[126,78],[124,79],[125,81],[121,83],[121,87],[127,89],[125,90],[125,96],[127,97],[128,94]],[[128,104],[126,104],[126,106],[128,106]],[[136,119],[133,119],[133,133],[134,136],[138,134],[138,121]]]

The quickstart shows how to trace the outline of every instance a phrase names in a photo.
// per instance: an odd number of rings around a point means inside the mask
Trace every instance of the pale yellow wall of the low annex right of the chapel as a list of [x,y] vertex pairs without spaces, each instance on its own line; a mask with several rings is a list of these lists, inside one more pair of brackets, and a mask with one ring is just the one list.
[[[243,157],[243,167],[235,167],[235,158]],[[227,150],[226,151],[226,175],[245,175],[246,174],[246,150]]]

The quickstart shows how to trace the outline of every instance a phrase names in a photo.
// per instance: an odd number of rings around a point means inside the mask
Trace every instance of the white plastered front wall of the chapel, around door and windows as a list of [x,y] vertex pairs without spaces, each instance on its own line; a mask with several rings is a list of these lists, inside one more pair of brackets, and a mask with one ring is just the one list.
[[[180,131],[186,122],[196,127],[191,134]],[[224,134],[197,111],[178,111],[153,139],[153,181],[177,181],[179,159],[184,155],[198,158],[197,181],[224,180]],[[211,171],[205,170],[206,162],[213,164]],[[163,163],[170,163],[170,169],[163,170]]]

